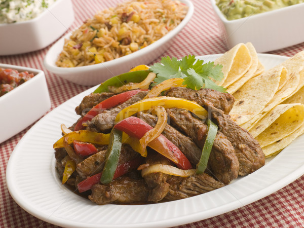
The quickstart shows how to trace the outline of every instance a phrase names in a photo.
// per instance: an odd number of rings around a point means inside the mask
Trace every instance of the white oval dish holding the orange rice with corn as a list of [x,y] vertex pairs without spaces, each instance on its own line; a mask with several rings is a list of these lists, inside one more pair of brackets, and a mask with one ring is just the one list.
[[163,36],[160,40],[141,50],[104,63],[80,67],[58,67],[56,66],[56,61],[62,51],[64,39],[71,35],[69,33],[50,48],[44,59],[44,65],[50,72],[55,73],[59,77],[70,82],[85,86],[95,86],[108,78],[129,71],[132,66],[149,64],[170,47],[172,44],[171,40],[181,31],[192,17],[194,12],[192,2],[189,0],[180,0],[180,2],[188,6],[188,12],[185,18],[176,28],[168,32],[168,34]]

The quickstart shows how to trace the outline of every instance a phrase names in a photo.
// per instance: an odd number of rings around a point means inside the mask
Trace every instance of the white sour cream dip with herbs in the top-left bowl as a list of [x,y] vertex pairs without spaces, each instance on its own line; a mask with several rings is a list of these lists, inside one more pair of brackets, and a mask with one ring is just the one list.
[[1,0],[0,23],[15,23],[33,19],[56,0]]

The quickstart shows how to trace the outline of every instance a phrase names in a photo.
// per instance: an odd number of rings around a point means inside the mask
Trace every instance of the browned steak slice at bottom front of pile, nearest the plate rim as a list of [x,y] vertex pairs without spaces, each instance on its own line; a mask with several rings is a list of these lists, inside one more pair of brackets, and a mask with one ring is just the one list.
[[120,177],[107,185],[95,184],[89,199],[96,204],[136,204],[147,202],[148,194],[143,179]]

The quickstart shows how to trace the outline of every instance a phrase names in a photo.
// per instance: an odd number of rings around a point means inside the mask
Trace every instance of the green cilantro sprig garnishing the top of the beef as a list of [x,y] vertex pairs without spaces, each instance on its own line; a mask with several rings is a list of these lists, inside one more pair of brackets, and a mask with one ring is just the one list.
[[182,78],[183,85],[193,90],[201,88],[214,89],[224,92],[226,89],[218,86],[214,81],[223,79],[221,71],[222,65],[214,65],[214,62],[204,63],[204,60],[196,59],[194,55],[188,55],[181,60],[167,56],[163,57],[159,63],[150,67],[150,71],[157,74],[154,85],[157,85],[167,79]]

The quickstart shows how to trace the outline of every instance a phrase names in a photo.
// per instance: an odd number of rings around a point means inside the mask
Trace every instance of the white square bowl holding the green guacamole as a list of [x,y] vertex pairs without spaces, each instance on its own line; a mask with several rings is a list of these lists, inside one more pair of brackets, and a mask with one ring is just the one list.
[[304,3],[227,20],[210,0],[227,49],[251,42],[257,52],[274,51],[304,42]]

